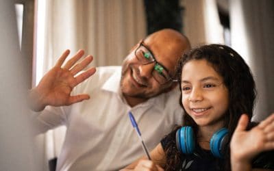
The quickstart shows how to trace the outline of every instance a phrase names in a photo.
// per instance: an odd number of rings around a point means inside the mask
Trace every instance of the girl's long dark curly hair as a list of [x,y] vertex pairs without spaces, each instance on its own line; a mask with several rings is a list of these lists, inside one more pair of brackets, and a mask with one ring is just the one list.
[[[216,73],[223,77],[224,84],[229,90],[229,107],[225,114],[224,127],[229,131],[230,141],[241,114],[247,114],[249,122],[253,116],[253,106],[257,93],[251,70],[236,51],[225,45],[209,44],[192,49],[184,54],[177,65],[177,80],[181,91],[180,105],[182,105],[182,68],[190,60],[206,60]],[[184,111],[186,113],[185,109]],[[184,114],[183,120],[182,126],[192,127],[195,135],[197,135],[198,126],[195,121],[188,114]],[[168,136],[170,140],[164,149],[166,153],[166,170],[179,170],[182,166],[182,159],[184,159],[184,154],[179,153],[177,148],[174,148],[174,146],[176,147],[175,132],[177,129],[179,127],[175,128],[175,131]],[[230,170],[229,159],[229,148],[227,148],[225,152],[225,170]]]

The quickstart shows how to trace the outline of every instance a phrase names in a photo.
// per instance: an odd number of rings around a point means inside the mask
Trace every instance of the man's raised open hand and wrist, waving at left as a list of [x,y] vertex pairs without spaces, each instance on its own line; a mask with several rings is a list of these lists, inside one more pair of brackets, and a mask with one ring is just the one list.
[[63,64],[69,53],[69,50],[64,51],[55,66],[42,77],[38,86],[29,91],[29,107],[33,111],[42,111],[47,105],[71,105],[90,98],[88,94],[71,96],[71,92],[75,86],[95,73],[96,69],[92,67],[77,75],[92,62],[93,57],[88,55],[82,62],[77,63],[84,55],[84,51],[79,50],[71,60]]

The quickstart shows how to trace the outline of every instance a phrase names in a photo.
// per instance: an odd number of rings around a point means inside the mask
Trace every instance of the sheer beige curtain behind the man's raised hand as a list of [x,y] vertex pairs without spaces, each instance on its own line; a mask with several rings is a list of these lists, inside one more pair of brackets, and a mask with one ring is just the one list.
[[[92,66],[121,65],[129,50],[146,34],[142,1],[47,0],[42,66],[36,67],[42,67],[43,75],[65,49],[71,49],[71,55],[84,49],[95,57]],[[45,161],[60,153],[64,132],[65,127],[59,127],[38,136]]]

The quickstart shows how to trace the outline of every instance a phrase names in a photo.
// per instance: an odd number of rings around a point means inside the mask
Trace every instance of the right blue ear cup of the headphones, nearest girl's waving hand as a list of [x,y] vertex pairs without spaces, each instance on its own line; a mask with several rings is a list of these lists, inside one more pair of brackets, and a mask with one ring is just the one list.
[[210,150],[215,157],[223,158],[223,153],[227,147],[228,130],[220,129],[210,139]]

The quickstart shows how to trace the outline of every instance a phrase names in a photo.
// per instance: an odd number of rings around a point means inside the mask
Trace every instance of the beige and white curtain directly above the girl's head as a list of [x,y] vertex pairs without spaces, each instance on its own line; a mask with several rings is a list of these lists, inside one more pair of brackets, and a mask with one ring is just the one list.
[[184,34],[192,47],[208,43],[224,43],[223,27],[216,0],[181,0],[184,6]]

